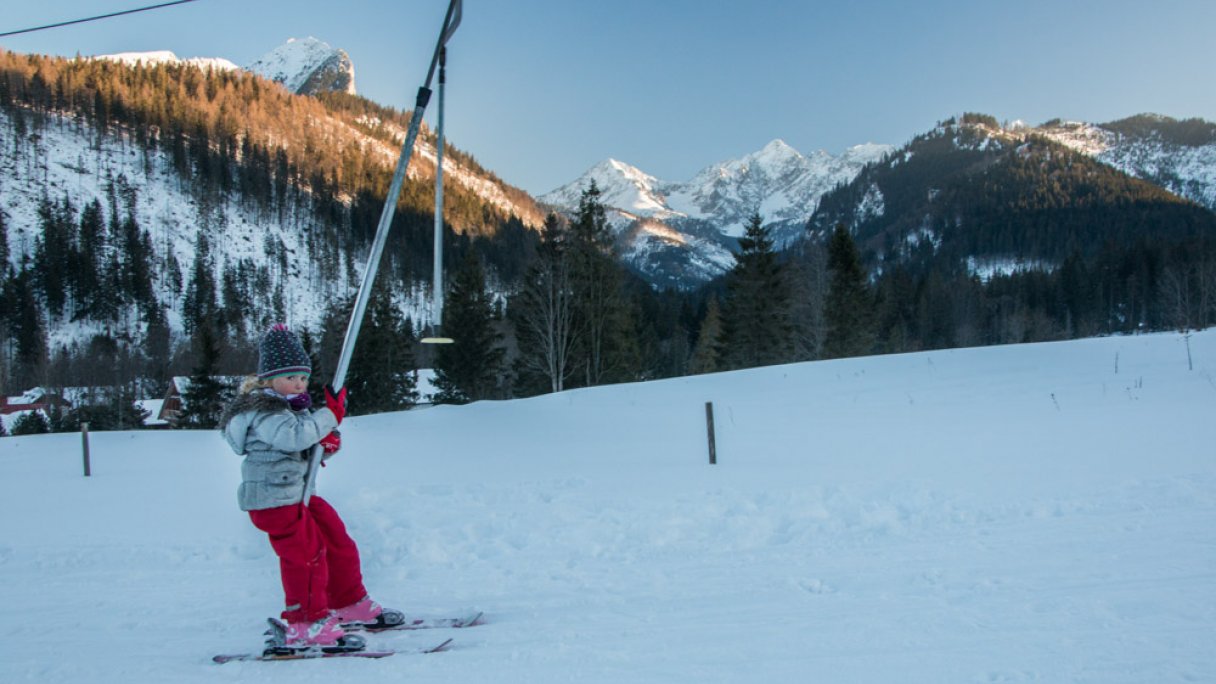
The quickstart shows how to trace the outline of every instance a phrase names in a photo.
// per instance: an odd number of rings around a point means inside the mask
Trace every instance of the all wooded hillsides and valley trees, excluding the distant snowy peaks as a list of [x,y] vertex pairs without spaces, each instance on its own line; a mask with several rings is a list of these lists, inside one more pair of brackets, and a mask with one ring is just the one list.
[[[406,114],[240,72],[0,52],[0,387],[88,389],[52,430],[130,425],[188,375],[214,424],[272,321],[327,381]],[[1130,125],[1130,124],[1128,124]],[[1200,131],[1201,134],[1203,131]],[[657,291],[601,191],[562,218],[447,147],[443,332],[424,131],[348,376],[351,410],[756,365],[1216,324],[1216,214],[1024,128],[967,114],[866,166],[777,251]],[[90,389],[91,388],[91,389]],[[100,408],[98,408],[100,407]]]

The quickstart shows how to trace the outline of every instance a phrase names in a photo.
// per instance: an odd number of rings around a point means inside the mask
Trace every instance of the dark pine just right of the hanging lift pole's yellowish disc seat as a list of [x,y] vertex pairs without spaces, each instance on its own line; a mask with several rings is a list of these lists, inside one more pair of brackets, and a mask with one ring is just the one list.
[[435,402],[467,404],[494,398],[502,385],[506,351],[474,250],[466,252],[465,264],[452,281],[443,330],[454,342],[441,346],[435,355]]

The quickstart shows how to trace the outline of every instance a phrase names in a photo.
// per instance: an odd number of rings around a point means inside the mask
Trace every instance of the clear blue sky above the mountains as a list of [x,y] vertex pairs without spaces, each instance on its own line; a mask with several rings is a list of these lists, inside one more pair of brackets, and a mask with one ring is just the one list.
[[[0,0],[0,32],[151,4]],[[313,35],[350,54],[360,94],[407,110],[446,6],[199,0],[0,46],[246,65]],[[1216,120],[1214,28],[1214,0],[466,0],[447,131],[540,194],[607,157],[687,180],[775,138],[839,153],[903,144],[963,111]]]

